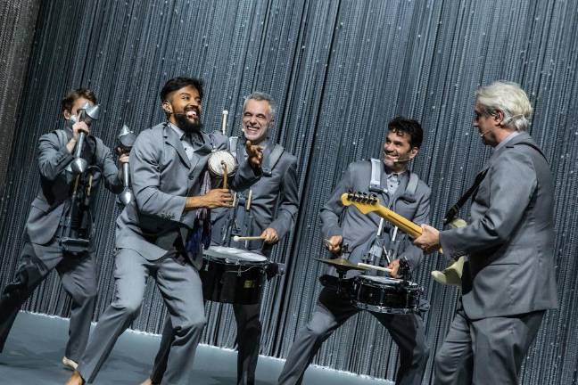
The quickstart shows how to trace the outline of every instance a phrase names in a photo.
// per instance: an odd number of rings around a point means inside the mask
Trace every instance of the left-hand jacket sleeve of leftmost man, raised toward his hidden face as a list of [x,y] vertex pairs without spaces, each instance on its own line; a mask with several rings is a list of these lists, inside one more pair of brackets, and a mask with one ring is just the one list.
[[74,160],[66,146],[60,147],[55,132],[40,136],[38,141],[38,169],[40,175],[54,181],[68,164]]

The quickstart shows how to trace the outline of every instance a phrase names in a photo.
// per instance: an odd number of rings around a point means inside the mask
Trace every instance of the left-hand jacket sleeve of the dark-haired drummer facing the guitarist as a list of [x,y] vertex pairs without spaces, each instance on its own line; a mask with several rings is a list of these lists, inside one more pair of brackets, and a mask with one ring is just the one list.
[[343,229],[339,225],[339,219],[343,213],[343,204],[341,196],[343,193],[349,193],[353,185],[352,166],[349,165],[343,178],[335,186],[334,192],[331,193],[325,206],[319,210],[321,217],[321,231],[326,239],[334,235],[342,235]]

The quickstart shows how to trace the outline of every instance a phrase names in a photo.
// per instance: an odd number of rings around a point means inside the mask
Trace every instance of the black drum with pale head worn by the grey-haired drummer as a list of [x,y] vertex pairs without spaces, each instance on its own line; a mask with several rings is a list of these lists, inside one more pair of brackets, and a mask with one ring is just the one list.
[[203,252],[200,274],[205,300],[240,305],[259,303],[267,258],[225,246],[211,246]]

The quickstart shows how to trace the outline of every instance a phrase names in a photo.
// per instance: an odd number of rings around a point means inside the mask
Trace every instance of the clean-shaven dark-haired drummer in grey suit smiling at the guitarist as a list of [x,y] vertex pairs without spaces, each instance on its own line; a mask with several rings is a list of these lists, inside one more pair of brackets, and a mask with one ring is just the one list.
[[[389,267],[392,276],[398,277],[400,259],[407,260],[412,269],[417,268],[422,251],[409,242],[407,237],[393,240],[396,233],[392,225],[386,225],[377,236],[380,218],[375,213],[362,214],[358,209],[343,207],[341,196],[349,192],[376,193],[382,205],[418,224],[428,220],[430,188],[408,169],[408,162],[416,157],[422,143],[423,131],[412,119],[396,118],[389,123],[382,160],[357,161],[350,164],[342,180],[335,187],[329,201],[321,209],[322,231],[332,253],[339,253],[343,245],[349,245],[352,263],[361,262],[377,247],[398,249],[398,257],[392,257]],[[400,242],[400,243],[397,243]],[[383,247],[382,247],[383,246]],[[378,256],[381,258],[381,255]],[[349,272],[348,274],[351,274]],[[301,383],[307,366],[318,349],[352,315],[358,307],[343,298],[333,288],[325,287],[319,294],[318,304],[310,319],[293,341],[287,361],[279,376],[279,384]],[[421,315],[392,315],[373,313],[390,332],[400,348],[400,368],[397,384],[421,383],[429,348],[425,342],[425,326]]]

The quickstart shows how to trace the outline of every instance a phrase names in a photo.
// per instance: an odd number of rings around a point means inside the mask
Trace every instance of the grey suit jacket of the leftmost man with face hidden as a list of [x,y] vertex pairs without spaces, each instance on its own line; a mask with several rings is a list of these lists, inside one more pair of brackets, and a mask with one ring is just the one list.
[[[26,222],[29,240],[36,244],[50,242],[62,217],[64,207],[70,198],[74,176],[65,168],[74,160],[66,149],[72,131],[70,128],[59,129],[40,136],[38,141],[38,171],[40,172],[40,191],[32,201],[32,207]],[[119,170],[112,159],[111,150],[100,138],[90,136],[95,140],[95,166],[100,168],[93,178],[93,191],[96,191],[101,179],[112,193],[122,191],[122,181],[118,177]],[[92,200],[94,204],[95,200]],[[94,216],[93,216],[94,217]]]

